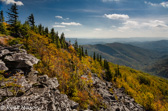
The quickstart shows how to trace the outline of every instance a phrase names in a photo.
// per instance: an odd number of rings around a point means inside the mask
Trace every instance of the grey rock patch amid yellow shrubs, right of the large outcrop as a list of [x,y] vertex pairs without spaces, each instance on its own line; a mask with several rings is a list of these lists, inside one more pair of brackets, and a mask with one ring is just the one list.
[[145,111],[133,98],[125,93],[124,88],[115,88],[111,82],[100,80],[96,74],[92,74],[93,87],[95,92],[103,98],[107,106],[101,111]]

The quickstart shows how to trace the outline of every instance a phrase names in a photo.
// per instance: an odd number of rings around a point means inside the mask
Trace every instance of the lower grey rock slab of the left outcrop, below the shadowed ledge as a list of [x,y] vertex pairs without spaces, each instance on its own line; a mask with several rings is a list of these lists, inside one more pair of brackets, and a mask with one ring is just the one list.
[[[44,75],[37,77],[35,84],[31,85],[30,82],[25,76],[19,77],[16,84],[22,86],[20,90],[24,93],[1,102],[0,109],[3,111],[75,111],[78,107],[78,103],[69,100],[65,94],[59,92],[57,78],[48,78]],[[5,91],[6,89],[0,90],[0,96],[9,96],[4,94]],[[10,93],[10,96],[13,94]]]

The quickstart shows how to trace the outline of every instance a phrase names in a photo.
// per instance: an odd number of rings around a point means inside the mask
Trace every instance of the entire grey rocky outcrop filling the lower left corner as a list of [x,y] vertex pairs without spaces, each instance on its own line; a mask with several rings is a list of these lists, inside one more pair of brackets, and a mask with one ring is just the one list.
[[16,46],[0,47],[0,70],[10,76],[0,81],[0,111],[75,111],[78,108],[78,103],[59,92],[57,78],[37,75],[33,65],[38,61]]

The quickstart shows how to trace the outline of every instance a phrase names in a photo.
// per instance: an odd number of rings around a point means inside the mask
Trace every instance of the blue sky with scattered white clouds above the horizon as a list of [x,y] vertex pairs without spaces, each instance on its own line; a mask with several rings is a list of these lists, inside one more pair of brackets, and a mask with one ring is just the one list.
[[0,10],[14,3],[22,23],[33,13],[67,38],[168,37],[168,0],[0,0]]

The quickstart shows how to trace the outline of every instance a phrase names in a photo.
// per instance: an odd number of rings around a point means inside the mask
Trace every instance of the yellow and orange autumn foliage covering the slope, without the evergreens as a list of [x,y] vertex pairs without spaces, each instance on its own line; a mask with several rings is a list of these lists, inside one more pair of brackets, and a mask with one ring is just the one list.
[[[57,48],[50,43],[50,39],[34,32],[30,32],[28,39],[28,52],[41,59],[35,66],[40,74],[57,77],[59,89],[71,99],[87,108],[90,104],[98,110],[101,106],[101,96],[92,89],[91,73],[96,73],[100,79],[105,76],[105,71],[98,61],[85,56],[79,59],[73,46],[68,49]],[[117,65],[110,63],[110,71],[114,80]],[[137,71],[125,66],[119,66],[121,77],[113,81],[116,87],[124,87],[136,102],[147,110],[166,111],[168,109],[168,81],[159,77]],[[86,78],[81,78],[87,75]],[[90,93],[88,93],[90,92]]]

